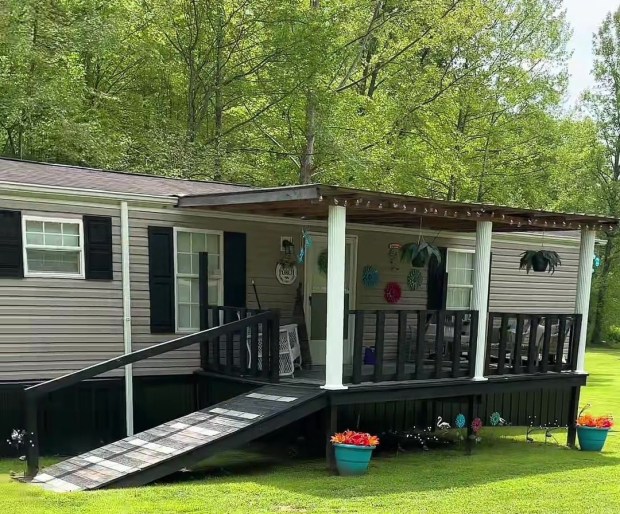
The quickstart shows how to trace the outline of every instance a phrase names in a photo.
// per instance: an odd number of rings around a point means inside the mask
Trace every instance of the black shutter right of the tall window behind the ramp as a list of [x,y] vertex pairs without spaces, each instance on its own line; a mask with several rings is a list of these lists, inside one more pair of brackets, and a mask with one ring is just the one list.
[[246,235],[224,232],[224,305],[246,306]]

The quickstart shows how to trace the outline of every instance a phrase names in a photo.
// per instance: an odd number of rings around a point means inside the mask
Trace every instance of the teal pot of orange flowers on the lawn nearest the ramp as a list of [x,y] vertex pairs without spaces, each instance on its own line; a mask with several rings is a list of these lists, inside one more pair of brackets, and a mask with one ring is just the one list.
[[331,442],[334,445],[338,473],[352,476],[366,473],[379,438],[364,432],[346,430],[334,434]]

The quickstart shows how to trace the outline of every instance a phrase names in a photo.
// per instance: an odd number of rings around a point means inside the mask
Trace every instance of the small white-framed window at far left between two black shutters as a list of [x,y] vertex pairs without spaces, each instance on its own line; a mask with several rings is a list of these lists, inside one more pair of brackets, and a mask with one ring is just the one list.
[[82,220],[22,217],[26,277],[84,278]]

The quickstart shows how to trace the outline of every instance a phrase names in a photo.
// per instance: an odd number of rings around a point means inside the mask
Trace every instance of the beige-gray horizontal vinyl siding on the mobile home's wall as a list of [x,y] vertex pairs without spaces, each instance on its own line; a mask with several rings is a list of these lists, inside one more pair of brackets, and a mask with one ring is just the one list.
[[[114,280],[22,278],[0,279],[0,381],[47,379],[78,370],[123,353],[123,310],[120,264],[120,220],[118,203],[110,207],[66,205],[33,200],[0,200],[0,208],[20,210],[24,214],[54,217],[79,217],[84,214],[112,217]],[[299,249],[301,227],[284,223],[234,221],[221,217],[193,214],[175,208],[157,212],[131,208],[130,272],[132,303],[132,339],[135,350],[177,337],[175,334],[150,333],[148,227],[170,226],[247,234],[247,300],[256,307],[252,280],[263,308],[279,309],[282,322],[290,321],[296,290],[303,282],[304,267],[298,266],[298,280],[281,285],[274,274],[280,258],[280,237],[292,236]],[[313,228],[315,232],[324,229]],[[397,261],[398,270],[390,268],[388,244],[417,240],[415,230],[406,233],[351,230],[357,236],[357,268],[355,308],[367,310],[426,308],[427,271],[422,270],[419,290],[406,285],[409,267]],[[440,234],[438,246],[473,248],[473,238]],[[565,243],[566,245],[567,243]],[[578,243],[554,247],[563,265],[554,275],[531,273],[518,269],[519,254],[536,249],[538,243],[508,242],[506,236],[494,234],[490,309],[507,312],[572,312],[575,300]],[[372,264],[379,269],[380,284],[366,288],[362,269]],[[389,281],[398,282],[403,297],[396,305],[383,298]],[[409,330],[415,330],[409,320]],[[366,345],[374,344],[374,319],[365,324]],[[386,319],[387,357],[395,355],[396,316]],[[200,365],[198,348],[181,350],[164,358],[149,359],[134,366],[138,375],[191,373]],[[120,372],[119,372],[120,373]]]

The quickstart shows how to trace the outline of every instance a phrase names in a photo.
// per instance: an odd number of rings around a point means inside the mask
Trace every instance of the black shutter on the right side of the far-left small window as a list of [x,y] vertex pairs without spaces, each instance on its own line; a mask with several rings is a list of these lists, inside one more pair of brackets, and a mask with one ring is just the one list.
[[84,216],[84,262],[87,280],[112,280],[112,218]]

